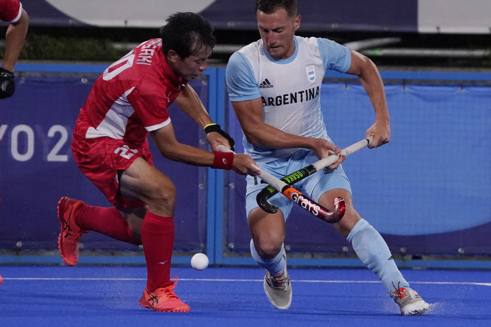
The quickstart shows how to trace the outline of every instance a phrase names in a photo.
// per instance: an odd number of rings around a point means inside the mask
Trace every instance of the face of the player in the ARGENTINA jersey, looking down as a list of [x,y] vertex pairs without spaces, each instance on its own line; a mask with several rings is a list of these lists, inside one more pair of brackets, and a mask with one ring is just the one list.
[[293,37],[300,27],[300,15],[288,16],[283,8],[272,14],[256,12],[259,34],[267,53],[275,59],[287,59],[295,53]]

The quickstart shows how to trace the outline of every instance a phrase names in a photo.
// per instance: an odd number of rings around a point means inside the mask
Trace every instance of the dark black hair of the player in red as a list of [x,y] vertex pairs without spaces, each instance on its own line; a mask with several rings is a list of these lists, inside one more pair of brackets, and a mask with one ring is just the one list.
[[181,58],[187,58],[202,48],[213,48],[216,39],[210,22],[193,12],[178,12],[170,15],[167,24],[160,29],[162,51],[167,56],[174,50]]

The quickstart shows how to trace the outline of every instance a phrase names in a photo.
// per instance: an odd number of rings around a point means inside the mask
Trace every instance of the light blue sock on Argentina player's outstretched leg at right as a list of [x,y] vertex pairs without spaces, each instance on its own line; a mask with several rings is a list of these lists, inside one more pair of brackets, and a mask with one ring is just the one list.
[[365,219],[354,225],[347,239],[358,258],[380,278],[387,291],[394,291],[392,282],[395,286],[400,282],[400,287],[409,287],[392,259],[387,243]]

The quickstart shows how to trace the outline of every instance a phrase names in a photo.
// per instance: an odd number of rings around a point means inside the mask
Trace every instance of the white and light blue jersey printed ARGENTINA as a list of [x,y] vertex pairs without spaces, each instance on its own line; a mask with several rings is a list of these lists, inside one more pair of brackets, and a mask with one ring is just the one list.
[[[274,59],[262,40],[244,46],[229,59],[226,72],[230,101],[261,98],[264,123],[285,133],[329,139],[321,112],[321,85],[325,72],[345,73],[351,64],[349,49],[324,38],[295,36],[295,53]],[[292,155],[298,149],[260,147],[243,137],[244,152],[256,161]]]

